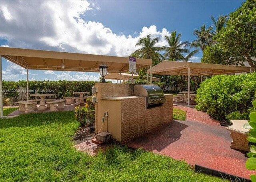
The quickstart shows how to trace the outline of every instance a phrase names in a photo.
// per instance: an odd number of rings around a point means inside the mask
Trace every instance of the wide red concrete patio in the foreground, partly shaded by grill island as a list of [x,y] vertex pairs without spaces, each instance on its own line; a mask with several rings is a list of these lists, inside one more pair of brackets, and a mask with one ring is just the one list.
[[246,152],[230,148],[230,132],[226,127],[201,121],[173,121],[135,138],[126,144],[157,154],[184,159],[188,164],[204,166],[250,179],[254,171],[245,168]]

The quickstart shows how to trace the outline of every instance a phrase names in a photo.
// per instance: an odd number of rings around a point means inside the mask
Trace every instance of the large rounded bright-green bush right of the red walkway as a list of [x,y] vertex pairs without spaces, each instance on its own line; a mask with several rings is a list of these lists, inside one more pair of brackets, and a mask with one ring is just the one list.
[[[248,119],[255,99],[256,73],[217,75],[201,83],[196,93],[196,109],[205,111],[218,121],[228,121],[232,115]],[[238,118],[233,118],[238,119]]]

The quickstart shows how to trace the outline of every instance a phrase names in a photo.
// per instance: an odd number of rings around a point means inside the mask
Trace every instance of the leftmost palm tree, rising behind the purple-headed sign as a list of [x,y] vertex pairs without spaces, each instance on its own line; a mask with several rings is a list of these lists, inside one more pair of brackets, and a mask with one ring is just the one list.
[[135,47],[141,46],[141,48],[134,51],[132,55],[139,58],[152,59],[153,65],[156,65],[163,59],[163,56],[159,53],[162,48],[155,46],[158,41],[159,38],[152,39],[150,34],[144,38],[140,38]]

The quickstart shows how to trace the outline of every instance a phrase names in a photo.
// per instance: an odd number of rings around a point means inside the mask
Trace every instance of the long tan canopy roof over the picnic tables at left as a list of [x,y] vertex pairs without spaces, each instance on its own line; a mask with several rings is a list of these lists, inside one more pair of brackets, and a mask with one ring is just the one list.
[[[108,65],[108,72],[128,71],[129,69],[128,57],[12,47],[0,47],[0,55],[28,69],[98,72],[98,67],[101,64]],[[62,62],[65,65],[64,69],[61,68]],[[136,58],[137,69],[149,65],[152,65],[152,59]]]

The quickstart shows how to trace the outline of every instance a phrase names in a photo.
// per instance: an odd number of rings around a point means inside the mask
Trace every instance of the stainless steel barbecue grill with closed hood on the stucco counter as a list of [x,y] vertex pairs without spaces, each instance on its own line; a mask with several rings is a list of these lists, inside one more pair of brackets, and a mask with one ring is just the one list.
[[147,107],[165,102],[164,92],[156,85],[134,85],[134,94],[147,98]]

